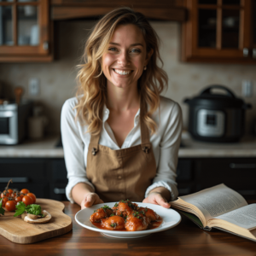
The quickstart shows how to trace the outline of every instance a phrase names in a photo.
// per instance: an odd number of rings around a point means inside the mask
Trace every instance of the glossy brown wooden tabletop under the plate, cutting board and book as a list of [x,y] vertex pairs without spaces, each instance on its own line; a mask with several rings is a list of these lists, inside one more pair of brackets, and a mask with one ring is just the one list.
[[[253,203],[256,201],[249,201]],[[73,219],[73,230],[34,244],[15,244],[0,236],[1,256],[29,255],[230,255],[255,256],[256,243],[219,230],[207,232],[183,218],[171,230],[137,239],[114,239],[86,230],[76,223],[78,205],[65,201],[65,213]]]

